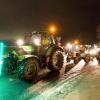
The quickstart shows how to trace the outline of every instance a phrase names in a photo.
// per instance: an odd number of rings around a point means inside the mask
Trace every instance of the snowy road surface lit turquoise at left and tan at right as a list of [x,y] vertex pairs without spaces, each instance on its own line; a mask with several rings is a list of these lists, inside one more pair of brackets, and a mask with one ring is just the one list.
[[[73,66],[71,64],[70,66]],[[70,71],[48,72],[36,84],[16,75],[0,77],[0,100],[100,100],[100,66],[97,60],[81,60]]]

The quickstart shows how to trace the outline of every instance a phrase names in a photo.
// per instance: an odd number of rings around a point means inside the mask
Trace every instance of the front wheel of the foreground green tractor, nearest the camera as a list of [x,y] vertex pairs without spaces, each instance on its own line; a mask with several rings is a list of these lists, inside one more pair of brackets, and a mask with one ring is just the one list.
[[35,58],[28,59],[19,65],[17,75],[28,82],[36,82],[39,71],[39,62]]

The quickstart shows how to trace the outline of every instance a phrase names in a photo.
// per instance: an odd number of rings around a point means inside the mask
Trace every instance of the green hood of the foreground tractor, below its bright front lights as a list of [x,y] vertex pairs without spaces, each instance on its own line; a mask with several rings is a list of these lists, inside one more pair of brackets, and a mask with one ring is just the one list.
[[22,61],[23,59],[30,57],[32,52],[34,52],[34,49],[31,45],[15,47],[12,48],[12,50],[6,51],[4,58],[18,58],[19,61]]

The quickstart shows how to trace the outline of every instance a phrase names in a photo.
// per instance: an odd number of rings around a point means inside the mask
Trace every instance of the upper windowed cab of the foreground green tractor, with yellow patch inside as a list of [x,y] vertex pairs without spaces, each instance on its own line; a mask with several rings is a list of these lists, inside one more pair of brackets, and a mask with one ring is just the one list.
[[26,33],[24,37],[26,44],[33,44],[35,46],[46,46],[54,42],[54,37],[47,32],[32,32]]

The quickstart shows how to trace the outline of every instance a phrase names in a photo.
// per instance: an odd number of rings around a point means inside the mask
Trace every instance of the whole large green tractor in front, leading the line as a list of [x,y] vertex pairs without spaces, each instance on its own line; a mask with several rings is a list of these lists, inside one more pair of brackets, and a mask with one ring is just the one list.
[[15,70],[20,79],[34,82],[43,69],[59,71],[62,68],[63,49],[53,36],[47,32],[32,32],[25,35],[23,42],[6,57],[6,71]]

